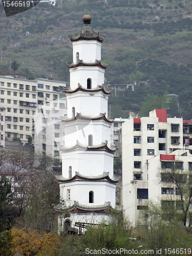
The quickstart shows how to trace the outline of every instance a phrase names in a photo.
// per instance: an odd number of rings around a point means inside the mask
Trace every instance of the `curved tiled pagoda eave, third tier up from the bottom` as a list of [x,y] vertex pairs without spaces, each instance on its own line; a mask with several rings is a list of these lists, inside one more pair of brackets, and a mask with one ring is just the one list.
[[82,151],[106,151],[109,153],[114,154],[116,151],[116,148],[112,148],[112,147],[108,147],[108,141],[105,140],[105,142],[102,142],[99,145],[95,145],[95,146],[88,146],[88,145],[82,145],[78,142],[76,142],[76,144],[72,147],[66,147],[65,145],[60,146],[59,150],[62,152],[71,152],[74,150],[82,150]]

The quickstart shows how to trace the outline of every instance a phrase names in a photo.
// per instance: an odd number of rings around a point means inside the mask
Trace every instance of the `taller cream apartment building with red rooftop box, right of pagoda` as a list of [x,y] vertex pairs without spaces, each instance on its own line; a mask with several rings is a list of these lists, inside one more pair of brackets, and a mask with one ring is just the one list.
[[[192,152],[192,120],[167,118],[166,110],[153,110],[149,117],[131,118],[122,124],[122,202],[125,215],[136,225],[139,209],[150,193],[149,160],[177,150]],[[153,168],[153,164],[151,167]],[[152,189],[151,192],[148,189]]]

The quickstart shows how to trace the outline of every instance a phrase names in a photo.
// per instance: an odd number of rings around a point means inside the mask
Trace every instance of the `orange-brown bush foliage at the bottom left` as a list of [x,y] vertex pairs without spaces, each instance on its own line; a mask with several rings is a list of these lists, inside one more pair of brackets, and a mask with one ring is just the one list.
[[57,256],[58,249],[62,246],[59,237],[53,233],[29,231],[28,229],[12,228],[13,240],[11,255],[20,256]]

